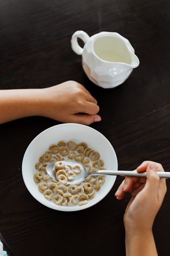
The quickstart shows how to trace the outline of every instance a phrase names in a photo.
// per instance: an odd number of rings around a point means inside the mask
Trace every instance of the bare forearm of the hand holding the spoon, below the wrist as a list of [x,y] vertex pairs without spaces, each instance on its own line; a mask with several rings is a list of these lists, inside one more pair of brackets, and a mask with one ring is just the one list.
[[126,256],[157,256],[152,230],[126,231]]

